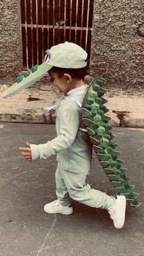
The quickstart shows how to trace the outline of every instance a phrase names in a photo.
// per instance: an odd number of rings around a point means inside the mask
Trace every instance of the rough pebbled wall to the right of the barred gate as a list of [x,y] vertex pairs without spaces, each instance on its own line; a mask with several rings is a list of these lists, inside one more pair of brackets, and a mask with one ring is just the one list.
[[95,0],[92,75],[107,86],[144,88],[143,10],[143,0]]

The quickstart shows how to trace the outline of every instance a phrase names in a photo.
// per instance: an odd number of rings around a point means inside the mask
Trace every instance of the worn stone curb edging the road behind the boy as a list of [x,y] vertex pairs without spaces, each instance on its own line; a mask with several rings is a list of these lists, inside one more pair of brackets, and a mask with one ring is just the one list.
[[[109,111],[107,116],[111,117],[109,125],[113,127],[130,127],[130,128],[144,128],[144,113],[134,113]],[[121,117],[120,117],[121,116]],[[20,111],[11,112],[7,111],[0,113],[0,122],[13,122],[13,123],[56,123],[55,111],[50,111],[46,114],[42,109],[24,109]]]

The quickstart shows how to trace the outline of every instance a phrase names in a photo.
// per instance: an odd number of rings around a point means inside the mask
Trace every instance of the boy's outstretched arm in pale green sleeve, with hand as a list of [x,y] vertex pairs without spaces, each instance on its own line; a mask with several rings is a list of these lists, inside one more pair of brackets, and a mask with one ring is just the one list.
[[59,112],[61,113],[60,127],[57,137],[45,144],[39,145],[26,142],[27,148],[20,148],[25,159],[29,161],[41,158],[46,159],[73,144],[81,122],[79,111],[74,108],[74,104],[76,104],[77,108],[77,103],[73,98],[68,99],[65,104],[63,102],[61,103],[59,107]]

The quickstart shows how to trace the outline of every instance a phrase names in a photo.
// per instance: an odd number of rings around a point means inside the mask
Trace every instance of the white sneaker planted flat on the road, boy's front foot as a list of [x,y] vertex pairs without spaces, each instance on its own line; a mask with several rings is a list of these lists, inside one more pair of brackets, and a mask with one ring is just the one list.
[[70,203],[67,207],[60,205],[58,200],[54,200],[51,203],[46,203],[44,207],[46,213],[61,213],[61,214],[71,214],[73,213],[73,207]]

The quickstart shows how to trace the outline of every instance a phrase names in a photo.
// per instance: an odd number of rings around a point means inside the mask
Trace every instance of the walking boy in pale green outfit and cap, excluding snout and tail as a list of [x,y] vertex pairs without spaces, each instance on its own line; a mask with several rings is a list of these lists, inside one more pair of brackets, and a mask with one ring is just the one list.
[[20,148],[28,161],[46,159],[57,153],[56,195],[57,200],[47,203],[46,213],[73,213],[71,198],[90,207],[104,208],[117,229],[124,225],[126,199],[124,196],[107,196],[85,183],[92,160],[92,144],[82,120],[81,103],[87,85],[84,84],[87,53],[74,43],[53,46],[45,57],[51,65],[49,76],[52,84],[64,93],[56,108],[57,137],[46,144],[29,144]]

